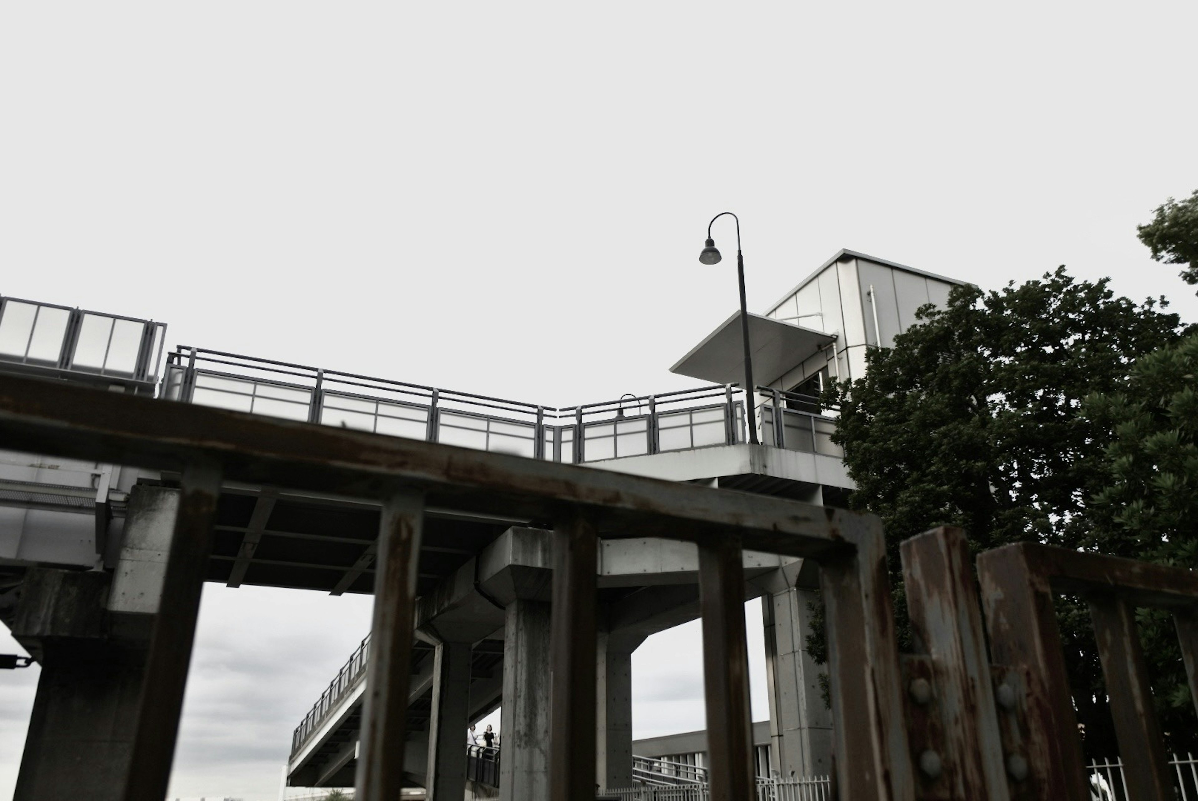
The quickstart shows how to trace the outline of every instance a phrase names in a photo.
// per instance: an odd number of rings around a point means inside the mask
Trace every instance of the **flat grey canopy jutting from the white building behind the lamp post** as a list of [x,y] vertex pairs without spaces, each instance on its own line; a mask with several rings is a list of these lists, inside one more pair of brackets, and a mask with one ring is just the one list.
[[[750,313],[754,381],[770,384],[835,341],[836,337],[823,331]],[[740,343],[740,312],[718,325],[670,372],[713,384],[743,384],[745,357]]]

